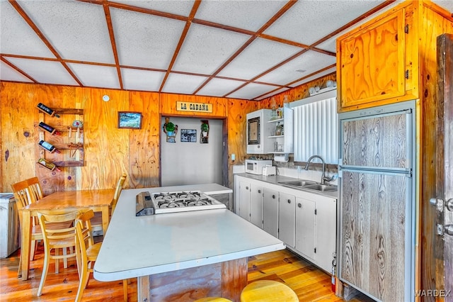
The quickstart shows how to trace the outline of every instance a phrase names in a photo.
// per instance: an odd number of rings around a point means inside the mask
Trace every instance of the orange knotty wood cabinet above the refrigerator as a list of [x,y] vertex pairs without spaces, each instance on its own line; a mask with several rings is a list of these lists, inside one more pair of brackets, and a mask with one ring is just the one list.
[[[337,40],[339,112],[423,99],[435,93],[437,30],[452,30],[447,11],[403,1]],[[434,69],[432,69],[434,67]]]

